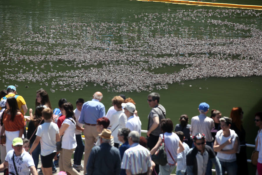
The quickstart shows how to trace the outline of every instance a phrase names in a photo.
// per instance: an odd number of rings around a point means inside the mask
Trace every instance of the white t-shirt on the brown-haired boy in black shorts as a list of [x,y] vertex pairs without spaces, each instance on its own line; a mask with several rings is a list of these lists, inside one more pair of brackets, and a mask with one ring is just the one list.
[[46,156],[56,152],[56,134],[59,133],[59,128],[54,122],[44,122],[39,125],[36,135],[41,137],[41,155]]

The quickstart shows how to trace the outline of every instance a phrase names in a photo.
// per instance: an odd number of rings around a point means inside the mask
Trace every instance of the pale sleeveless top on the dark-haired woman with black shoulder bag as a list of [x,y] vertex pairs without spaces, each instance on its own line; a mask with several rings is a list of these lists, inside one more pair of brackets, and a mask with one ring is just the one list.
[[[177,148],[179,146],[179,137],[176,133],[174,132],[165,132],[165,150],[169,150],[171,153],[172,157],[176,161],[177,159]],[[161,139],[163,139],[163,134],[160,134]],[[167,151],[167,162],[170,164],[175,164],[174,160],[172,159],[171,155]]]

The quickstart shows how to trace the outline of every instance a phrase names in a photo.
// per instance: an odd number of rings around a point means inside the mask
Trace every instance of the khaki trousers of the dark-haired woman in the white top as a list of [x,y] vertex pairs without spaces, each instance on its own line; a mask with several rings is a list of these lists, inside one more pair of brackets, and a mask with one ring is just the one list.
[[74,152],[75,148],[73,149],[64,149],[60,151],[60,156],[59,156],[59,169],[60,171],[66,171],[69,172],[71,175],[80,175],[78,171],[75,168],[72,168],[71,166],[71,157]]

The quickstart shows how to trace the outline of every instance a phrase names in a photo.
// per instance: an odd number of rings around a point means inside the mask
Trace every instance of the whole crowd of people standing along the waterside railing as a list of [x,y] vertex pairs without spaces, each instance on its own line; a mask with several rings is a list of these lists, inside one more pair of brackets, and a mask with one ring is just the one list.
[[[0,97],[0,170],[5,174],[51,175],[59,167],[71,175],[79,175],[79,170],[84,174],[166,175],[175,168],[178,175],[211,175],[213,165],[218,175],[225,171],[229,175],[248,174],[240,107],[232,108],[230,117],[222,117],[218,110],[212,110],[209,117],[209,105],[202,102],[191,124],[184,114],[174,127],[166,118],[160,95],[152,92],[147,97],[152,109],[145,138],[136,103],[125,95],[113,97],[106,113],[101,92],[95,92],[91,101],[77,99],[75,109],[65,98],[52,109],[47,92],[41,89],[36,92],[36,108],[29,109],[29,118],[24,117],[26,102],[17,95],[15,86],[0,91]],[[262,175],[262,112],[254,117],[259,127],[255,139],[257,174]],[[165,150],[164,161],[155,158],[160,149]],[[37,172],[39,155],[42,167]]]

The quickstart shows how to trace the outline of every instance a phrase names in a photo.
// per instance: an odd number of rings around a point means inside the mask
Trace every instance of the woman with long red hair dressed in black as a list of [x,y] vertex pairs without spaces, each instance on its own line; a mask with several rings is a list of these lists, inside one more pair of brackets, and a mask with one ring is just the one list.
[[230,129],[233,129],[240,141],[240,152],[236,153],[238,172],[237,174],[248,174],[247,168],[247,146],[246,146],[246,132],[242,126],[242,118],[244,112],[241,107],[234,107],[231,110],[230,118],[232,118],[232,125]]

